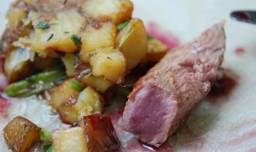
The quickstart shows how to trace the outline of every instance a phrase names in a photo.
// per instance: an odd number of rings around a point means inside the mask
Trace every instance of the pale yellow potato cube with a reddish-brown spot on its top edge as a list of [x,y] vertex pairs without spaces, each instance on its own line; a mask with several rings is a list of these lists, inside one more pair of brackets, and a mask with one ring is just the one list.
[[87,52],[102,46],[114,46],[117,36],[117,27],[112,22],[95,22],[87,24],[82,36],[82,48],[79,59],[88,63]]

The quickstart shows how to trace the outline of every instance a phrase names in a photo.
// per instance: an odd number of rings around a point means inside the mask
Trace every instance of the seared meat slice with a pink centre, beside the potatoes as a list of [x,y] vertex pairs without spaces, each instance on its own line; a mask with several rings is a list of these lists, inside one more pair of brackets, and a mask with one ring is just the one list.
[[191,43],[170,50],[135,83],[124,108],[124,130],[159,147],[186,122],[190,109],[223,76],[223,26],[215,24]]

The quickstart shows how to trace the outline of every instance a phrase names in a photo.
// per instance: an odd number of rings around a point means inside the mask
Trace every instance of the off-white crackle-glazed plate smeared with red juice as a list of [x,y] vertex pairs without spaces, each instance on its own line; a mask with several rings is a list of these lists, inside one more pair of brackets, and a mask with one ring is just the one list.
[[[256,151],[256,26],[231,20],[232,10],[256,10],[254,0],[132,0],[133,17],[143,19],[148,34],[166,44],[176,46],[191,41],[213,24],[226,20],[226,52],[223,67],[226,77],[219,88],[193,108],[186,125],[172,135],[160,149],[147,147],[120,129],[115,128],[127,152],[192,151],[253,152]],[[5,12],[11,0],[0,1],[0,31],[5,28]],[[5,83],[0,74],[0,86]],[[214,93],[213,93],[214,92]],[[48,130],[63,127],[58,116],[37,100],[15,100],[6,106],[0,100],[0,151],[8,148],[2,128],[16,115],[23,115]],[[44,108],[41,108],[41,106]],[[47,114],[43,116],[43,114]],[[117,115],[121,116],[120,113]],[[10,150],[9,150],[10,151]]]

